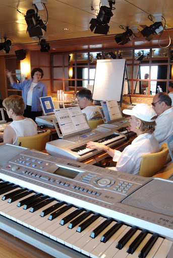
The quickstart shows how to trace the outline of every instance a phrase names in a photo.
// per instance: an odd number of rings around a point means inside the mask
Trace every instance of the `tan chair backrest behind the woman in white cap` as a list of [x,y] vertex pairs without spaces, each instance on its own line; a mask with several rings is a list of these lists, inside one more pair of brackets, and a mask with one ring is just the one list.
[[160,152],[142,155],[139,175],[150,177],[163,168],[168,154],[167,144],[163,143]]

